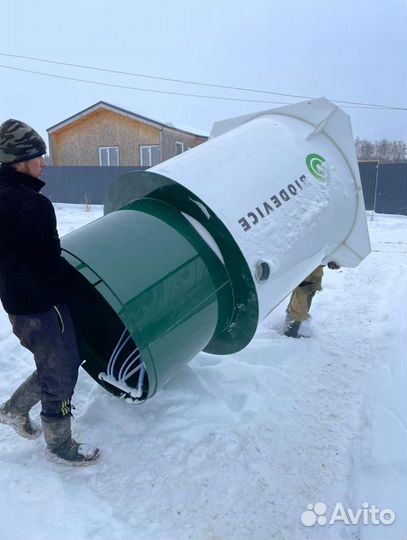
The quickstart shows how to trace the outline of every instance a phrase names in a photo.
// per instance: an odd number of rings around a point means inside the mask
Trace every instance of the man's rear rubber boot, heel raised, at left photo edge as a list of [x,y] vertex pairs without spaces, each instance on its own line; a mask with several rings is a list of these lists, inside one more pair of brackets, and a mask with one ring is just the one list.
[[40,398],[41,388],[35,371],[8,401],[0,405],[0,423],[12,427],[21,437],[37,439],[41,435],[41,428],[31,420],[29,412]]

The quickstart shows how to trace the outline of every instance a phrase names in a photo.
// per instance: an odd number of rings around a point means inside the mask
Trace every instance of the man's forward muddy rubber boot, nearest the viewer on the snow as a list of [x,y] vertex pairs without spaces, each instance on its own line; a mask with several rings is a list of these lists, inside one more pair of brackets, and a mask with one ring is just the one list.
[[99,457],[99,448],[77,443],[72,438],[71,416],[51,418],[41,414],[48,459],[66,465],[91,465]]

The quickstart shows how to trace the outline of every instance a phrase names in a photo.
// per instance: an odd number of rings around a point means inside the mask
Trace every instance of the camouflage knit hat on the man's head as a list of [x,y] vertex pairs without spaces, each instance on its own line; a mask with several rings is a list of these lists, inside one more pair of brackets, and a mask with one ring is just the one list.
[[42,156],[47,151],[42,137],[20,120],[6,120],[0,126],[0,162],[19,163]]

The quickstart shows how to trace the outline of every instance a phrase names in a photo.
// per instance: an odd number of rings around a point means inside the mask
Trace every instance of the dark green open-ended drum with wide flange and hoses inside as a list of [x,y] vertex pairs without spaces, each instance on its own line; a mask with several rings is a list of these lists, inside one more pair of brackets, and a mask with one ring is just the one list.
[[[139,178],[126,177],[126,185]],[[69,303],[83,367],[129,401],[153,396],[202,350],[240,350],[257,326],[244,259],[230,238],[219,241],[223,251],[210,247],[191,212],[174,205],[177,189],[172,182],[110,207],[61,241],[77,270]],[[176,199],[182,207],[188,198]]]

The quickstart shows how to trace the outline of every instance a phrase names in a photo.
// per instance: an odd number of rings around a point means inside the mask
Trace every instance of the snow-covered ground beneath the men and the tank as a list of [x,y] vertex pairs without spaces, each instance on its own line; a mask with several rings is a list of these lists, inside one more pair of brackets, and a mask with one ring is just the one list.
[[[62,235],[102,213],[55,206]],[[282,304],[245,350],[201,353],[140,407],[81,371],[74,432],[97,465],[50,463],[0,426],[0,540],[405,539],[407,219],[368,219],[373,251],[326,270],[310,339],[281,335]],[[33,361],[3,311],[0,351],[4,401]]]

